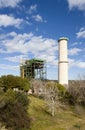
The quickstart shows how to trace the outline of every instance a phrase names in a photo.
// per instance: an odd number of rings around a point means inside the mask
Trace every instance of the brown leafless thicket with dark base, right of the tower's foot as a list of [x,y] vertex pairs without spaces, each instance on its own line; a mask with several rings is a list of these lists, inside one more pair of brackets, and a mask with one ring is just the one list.
[[85,107],[85,80],[71,81],[65,98],[72,105]]

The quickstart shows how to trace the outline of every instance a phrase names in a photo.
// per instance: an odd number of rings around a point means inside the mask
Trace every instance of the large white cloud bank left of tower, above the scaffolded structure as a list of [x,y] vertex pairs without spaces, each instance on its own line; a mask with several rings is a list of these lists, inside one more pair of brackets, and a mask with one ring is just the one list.
[[57,53],[58,49],[57,40],[34,36],[32,33],[16,34],[11,32],[4,39],[0,38],[0,42],[0,53],[12,54],[18,52],[22,54],[18,57],[6,57],[6,60],[14,62],[18,61],[17,58],[26,58],[27,55],[32,54],[33,58],[42,58],[49,63],[55,64],[55,53]]

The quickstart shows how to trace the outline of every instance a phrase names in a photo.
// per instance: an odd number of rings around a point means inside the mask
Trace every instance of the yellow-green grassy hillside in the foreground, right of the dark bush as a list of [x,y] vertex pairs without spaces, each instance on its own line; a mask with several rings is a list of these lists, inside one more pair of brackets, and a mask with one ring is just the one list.
[[32,120],[31,130],[85,130],[85,110],[82,108],[58,108],[52,117],[46,111],[42,99],[30,96],[29,114]]

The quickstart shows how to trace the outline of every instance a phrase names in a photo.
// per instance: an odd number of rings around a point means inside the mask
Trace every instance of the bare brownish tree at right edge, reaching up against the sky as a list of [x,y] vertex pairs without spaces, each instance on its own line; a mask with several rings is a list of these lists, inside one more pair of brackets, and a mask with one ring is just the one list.
[[71,81],[68,91],[73,98],[74,104],[85,106],[85,76],[79,77],[78,80]]

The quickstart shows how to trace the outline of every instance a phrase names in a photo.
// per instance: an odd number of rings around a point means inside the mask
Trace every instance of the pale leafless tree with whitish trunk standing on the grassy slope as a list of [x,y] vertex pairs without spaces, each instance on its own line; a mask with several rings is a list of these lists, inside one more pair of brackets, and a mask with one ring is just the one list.
[[58,88],[54,82],[48,82],[46,85],[45,100],[51,115],[54,116],[56,108],[60,104],[60,97],[58,96]]

